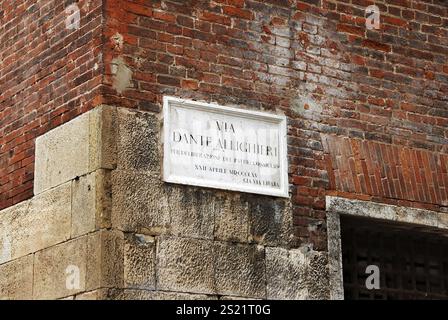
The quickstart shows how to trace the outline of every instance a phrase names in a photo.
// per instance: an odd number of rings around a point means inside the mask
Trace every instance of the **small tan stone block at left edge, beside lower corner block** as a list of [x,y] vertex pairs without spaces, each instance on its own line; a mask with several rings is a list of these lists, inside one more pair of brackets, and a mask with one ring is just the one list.
[[0,300],[33,297],[33,255],[0,265]]

